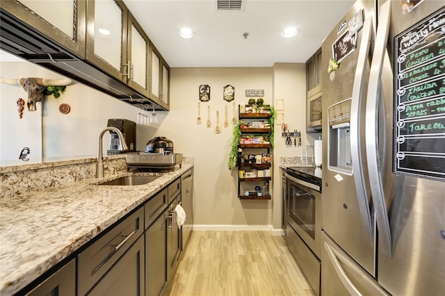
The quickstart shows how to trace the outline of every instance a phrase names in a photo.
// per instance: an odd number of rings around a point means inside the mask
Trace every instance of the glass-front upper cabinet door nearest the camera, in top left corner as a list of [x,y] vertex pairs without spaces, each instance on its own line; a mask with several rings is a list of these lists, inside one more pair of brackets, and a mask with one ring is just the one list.
[[85,58],[86,0],[2,0],[0,7],[79,58]]

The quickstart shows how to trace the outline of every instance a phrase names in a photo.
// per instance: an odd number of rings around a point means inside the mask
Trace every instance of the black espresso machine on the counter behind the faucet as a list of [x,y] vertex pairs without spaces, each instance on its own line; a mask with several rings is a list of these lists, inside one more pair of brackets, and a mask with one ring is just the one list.
[[108,120],[107,126],[114,126],[122,132],[129,149],[122,151],[118,133],[110,131],[110,149],[106,151],[106,154],[120,154],[136,151],[136,122],[124,119],[110,119]]

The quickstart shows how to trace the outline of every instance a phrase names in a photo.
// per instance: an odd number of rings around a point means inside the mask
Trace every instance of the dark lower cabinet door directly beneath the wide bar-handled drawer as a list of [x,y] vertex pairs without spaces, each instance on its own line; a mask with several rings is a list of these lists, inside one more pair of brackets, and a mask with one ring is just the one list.
[[141,236],[88,295],[144,295],[144,249],[144,236]]

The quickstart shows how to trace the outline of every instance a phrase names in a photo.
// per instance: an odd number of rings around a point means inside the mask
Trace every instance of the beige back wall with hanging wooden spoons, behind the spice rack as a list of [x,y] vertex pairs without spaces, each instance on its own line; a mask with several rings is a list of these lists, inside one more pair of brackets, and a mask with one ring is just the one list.
[[[223,87],[235,88],[238,104],[247,103],[246,89],[264,90],[265,104],[272,104],[271,68],[175,68],[171,70],[172,106],[161,131],[175,141],[175,151],[195,156],[195,224],[270,224],[271,201],[238,199],[237,170],[227,167],[234,125],[215,133],[216,110],[223,126],[225,106],[229,120],[233,101],[223,99]],[[197,124],[198,88],[210,85],[210,101],[201,102],[202,124]],[[206,127],[211,106],[211,128]]]

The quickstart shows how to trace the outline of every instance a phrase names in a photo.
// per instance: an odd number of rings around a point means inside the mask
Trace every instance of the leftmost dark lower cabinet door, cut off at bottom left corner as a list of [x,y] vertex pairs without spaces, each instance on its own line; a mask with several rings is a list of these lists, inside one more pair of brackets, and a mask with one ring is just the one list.
[[39,286],[31,290],[28,296],[74,296],[76,295],[76,260],[60,268]]

